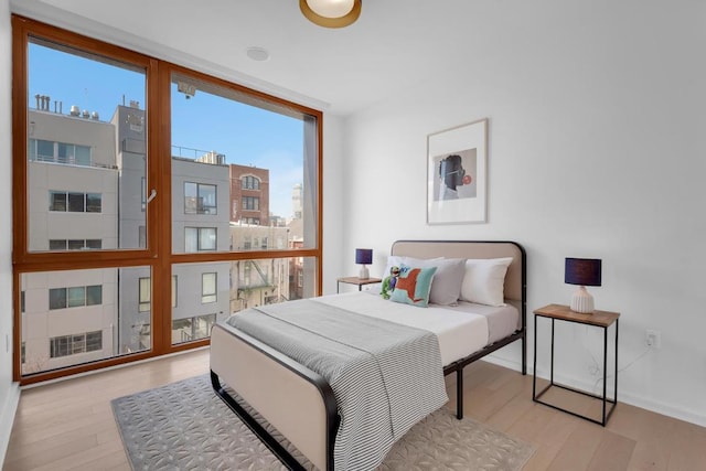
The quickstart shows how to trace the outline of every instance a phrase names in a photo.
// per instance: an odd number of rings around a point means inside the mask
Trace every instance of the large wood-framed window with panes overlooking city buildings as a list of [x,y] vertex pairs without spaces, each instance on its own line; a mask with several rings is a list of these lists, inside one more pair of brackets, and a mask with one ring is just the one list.
[[13,41],[18,381],[320,292],[320,111],[21,17]]

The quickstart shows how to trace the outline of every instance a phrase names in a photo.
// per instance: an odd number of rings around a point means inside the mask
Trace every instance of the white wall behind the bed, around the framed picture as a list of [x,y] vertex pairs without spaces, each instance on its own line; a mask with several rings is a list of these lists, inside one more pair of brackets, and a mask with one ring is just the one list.
[[[363,245],[383,276],[395,239],[514,239],[527,251],[532,311],[568,303],[565,257],[601,258],[603,286],[589,291],[597,309],[622,314],[619,400],[706,425],[706,8],[468,8],[466,56],[345,121],[344,271],[355,272],[347,255]],[[488,224],[426,225],[427,135],[483,117]],[[646,329],[661,331],[660,350],[648,351]],[[588,371],[601,338],[557,333],[561,375],[597,384]],[[532,343],[528,354],[532,366]],[[537,357],[546,373],[548,356]],[[518,350],[496,358],[516,367]]]

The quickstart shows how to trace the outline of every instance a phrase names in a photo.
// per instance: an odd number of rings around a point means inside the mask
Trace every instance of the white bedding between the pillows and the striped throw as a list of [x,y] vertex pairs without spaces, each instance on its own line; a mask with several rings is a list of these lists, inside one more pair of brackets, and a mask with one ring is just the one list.
[[[387,301],[378,295],[366,291],[322,296],[317,300],[360,314],[434,332],[439,339],[441,362],[445,366],[511,334],[517,325],[516,309],[512,306],[490,308],[462,302],[458,307],[429,304],[428,308],[418,308]],[[513,311],[514,318],[512,318]],[[493,319],[496,313],[500,313],[503,321],[489,322],[489,319]],[[511,318],[513,320],[507,321]],[[493,327],[492,338],[489,325]]]

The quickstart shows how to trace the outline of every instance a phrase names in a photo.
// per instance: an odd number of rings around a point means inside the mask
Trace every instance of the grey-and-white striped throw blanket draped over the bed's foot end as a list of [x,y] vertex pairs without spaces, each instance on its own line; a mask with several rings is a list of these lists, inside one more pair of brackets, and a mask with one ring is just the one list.
[[336,470],[371,470],[396,440],[447,400],[437,336],[312,299],[238,312],[226,321],[331,385],[341,415]]

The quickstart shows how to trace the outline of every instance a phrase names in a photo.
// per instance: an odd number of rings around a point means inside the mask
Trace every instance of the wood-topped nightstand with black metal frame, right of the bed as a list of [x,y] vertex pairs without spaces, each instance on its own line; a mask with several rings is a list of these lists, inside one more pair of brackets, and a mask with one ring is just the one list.
[[[561,410],[568,414],[571,414],[576,417],[584,418],[586,420],[592,421],[593,424],[598,424],[601,426],[606,426],[606,422],[610,418],[610,415],[616,409],[616,405],[618,404],[618,318],[620,318],[620,313],[610,312],[610,311],[593,311],[592,314],[582,314],[579,312],[574,312],[569,309],[568,306],[563,304],[548,304],[544,308],[539,308],[534,311],[534,372],[532,379],[532,399],[535,403],[544,404],[545,406],[553,407],[557,410]],[[550,373],[549,373],[549,384],[537,393],[537,319],[545,318],[552,321],[552,363],[550,363]],[[596,327],[598,329],[603,330],[603,394],[602,396],[598,396],[588,392],[575,389],[573,387],[564,386],[554,382],[554,323],[555,321],[566,321],[566,322],[575,322],[585,325]],[[616,325],[616,365],[613,368],[613,377],[614,377],[614,388],[613,388],[613,398],[609,399],[607,397],[607,382],[608,382],[608,329],[611,325]],[[595,399],[600,399],[602,402],[602,414],[600,419],[595,419],[592,417],[588,417],[586,415],[578,414],[573,410],[568,410],[566,408],[559,407],[557,405],[553,405],[542,400],[542,396],[547,393],[552,387],[558,387],[565,390],[569,390],[571,393],[578,393],[585,396],[592,397]],[[607,410],[607,405],[611,404],[610,410]]]

